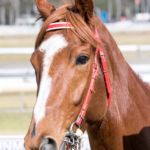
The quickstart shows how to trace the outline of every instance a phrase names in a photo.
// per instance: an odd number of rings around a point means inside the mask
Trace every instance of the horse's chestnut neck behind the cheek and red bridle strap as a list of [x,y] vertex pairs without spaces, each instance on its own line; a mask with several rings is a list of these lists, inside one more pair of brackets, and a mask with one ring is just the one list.
[[[105,35],[110,36],[109,33]],[[113,95],[101,127],[95,125],[88,129],[93,150],[121,150],[123,136],[137,134],[150,126],[150,87],[129,67],[114,40],[108,39],[112,40],[105,45],[112,69]]]

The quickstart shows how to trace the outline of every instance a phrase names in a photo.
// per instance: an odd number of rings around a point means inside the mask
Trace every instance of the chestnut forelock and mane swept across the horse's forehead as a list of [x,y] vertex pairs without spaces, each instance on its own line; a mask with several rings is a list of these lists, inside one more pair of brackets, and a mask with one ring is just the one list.
[[[43,26],[38,34],[35,49],[39,47],[46,33],[46,29],[50,23],[58,21],[70,22],[74,29],[72,31],[84,42],[91,44],[93,47],[97,47],[97,44],[100,43],[95,38],[93,34],[94,29],[96,28],[96,17],[90,19],[88,24],[84,19],[76,12],[73,11],[72,6],[66,4],[54,11],[50,17],[48,17],[44,22]],[[69,29],[70,30],[70,29]]]

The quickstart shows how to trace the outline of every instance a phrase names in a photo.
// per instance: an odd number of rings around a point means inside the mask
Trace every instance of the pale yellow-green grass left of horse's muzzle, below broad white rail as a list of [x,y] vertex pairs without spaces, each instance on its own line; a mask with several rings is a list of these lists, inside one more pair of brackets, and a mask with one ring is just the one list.
[[[19,110],[33,109],[35,92],[0,94],[0,135],[25,134],[31,120],[31,112]],[[3,110],[9,110],[8,112]],[[13,110],[18,110],[13,112]]]

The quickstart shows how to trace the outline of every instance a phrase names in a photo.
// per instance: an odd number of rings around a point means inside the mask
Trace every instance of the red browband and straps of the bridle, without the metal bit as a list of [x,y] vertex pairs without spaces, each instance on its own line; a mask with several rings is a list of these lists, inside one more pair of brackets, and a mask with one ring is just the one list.
[[[74,29],[74,27],[69,22],[56,22],[56,23],[49,24],[46,31],[48,32],[48,31],[60,30],[60,29]],[[97,39],[99,39],[99,34],[98,34],[97,30],[95,31],[95,36],[96,36]],[[87,94],[86,94],[85,98],[83,99],[83,104],[82,104],[80,113],[77,117],[77,120],[75,121],[75,124],[77,126],[81,126],[81,124],[82,124],[82,122],[85,118],[85,115],[86,115],[86,112],[87,112],[87,109],[88,109],[88,105],[91,101],[91,95],[92,95],[92,93],[94,93],[95,81],[96,81],[96,78],[98,77],[98,75],[100,73],[98,57],[100,58],[100,62],[101,62],[101,65],[102,65],[102,71],[103,71],[106,90],[107,90],[108,109],[110,108],[112,88],[111,88],[111,83],[110,83],[110,79],[109,79],[109,75],[108,75],[108,68],[107,68],[107,64],[106,64],[106,58],[105,58],[105,55],[104,55],[103,48],[97,47],[96,52],[95,52],[95,60],[94,60],[94,64],[93,64],[92,78],[91,78],[91,81],[90,81],[89,89],[87,91]]]

